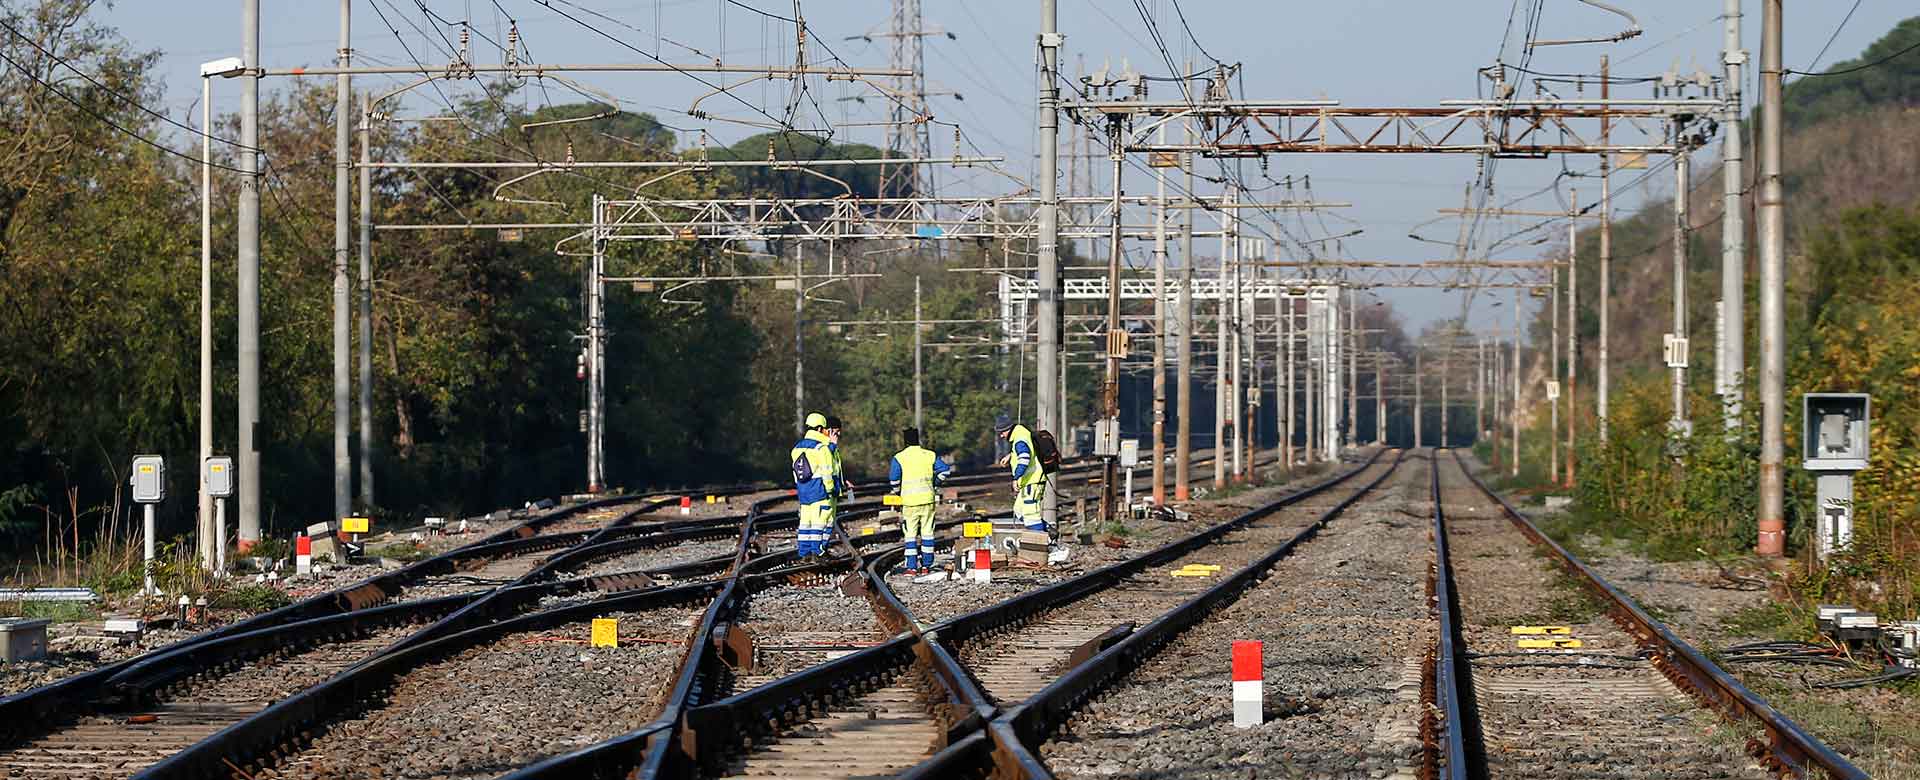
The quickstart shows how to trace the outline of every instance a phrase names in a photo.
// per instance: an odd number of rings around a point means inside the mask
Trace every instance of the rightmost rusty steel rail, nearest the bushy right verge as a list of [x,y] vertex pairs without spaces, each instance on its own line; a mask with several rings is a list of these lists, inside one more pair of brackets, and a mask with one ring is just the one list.
[[1540,526],[1509,503],[1505,496],[1488,490],[1486,482],[1467,469],[1459,451],[1453,451],[1453,463],[1463,475],[1467,475],[1467,480],[1473,482],[1475,488],[1500,503],[1507,521],[1511,521],[1523,536],[1551,551],[1553,563],[1605,601],[1607,615],[1613,622],[1632,634],[1634,640],[1651,653],[1653,667],[1667,674],[1676,688],[1688,692],[1699,699],[1701,705],[1728,720],[1759,726],[1766,734],[1766,742],[1763,743],[1761,740],[1751,740],[1747,743],[1747,751],[1772,765],[1774,772],[1793,776],[1824,776],[1834,780],[1866,780],[1868,774],[1864,770],[1836,753],[1812,734],[1807,734],[1805,728],[1786,715],[1780,715],[1780,711],[1768,705],[1766,699],[1747,690],[1747,686],[1741,686],[1740,680],[1707,659],[1699,649],[1640,609],[1630,596],[1601,578],[1599,573],[1567,551],[1567,548],[1561,548],[1559,542],[1553,542],[1548,534],[1540,532]]

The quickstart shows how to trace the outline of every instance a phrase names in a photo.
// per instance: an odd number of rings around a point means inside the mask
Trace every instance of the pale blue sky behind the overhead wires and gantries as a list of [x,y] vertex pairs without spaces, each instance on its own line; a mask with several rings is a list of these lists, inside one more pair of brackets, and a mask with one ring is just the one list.
[[[353,0],[353,44],[365,56],[361,63],[411,63],[415,58],[440,65],[447,61],[445,38],[457,40],[451,29],[436,27],[419,0]],[[1181,29],[1171,0],[1140,0],[1160,21],[1160,33],[1169,42],[1175,61],[1206,60]],[[1519,2],[1524,6],[1524,2]],[[1657,75],[1668,67],[1692,73],[1695,67],[1720,71],[1722,27],[1720,0],[1613,0],[1634,13],[1645,33],[1619,44],[1540,48],[1534,69],[1586,73],[1597,67],[1601,54],[1613,58],[1615,73]],[[263,0],[261,48],[267,67],[326,65],[332,61],[338,31],[338,2],[324,0]],[[668,61],[703,61],[714,56],[728,63],[791,63],[791,25],[749,12],[755,6],[768,13],[791,15],[791,0],[424,0],[424,6],[444,19],[472,19],[474,29],[505,38],[507,17],[518,19],[520,35],[536,61],[588,63],[637,61],[641,54],[659,54]],[[937,96],[933,113],[966,127],[968,140],[987,154],[1002,154],[1008,167],[1029,175],[1037,133],[1033,129],[1033,38],[1039,31],[1039,4],[1033,0],[929,0],[924,2],[925,27],[952,33],[954,38],[931,37],[925,42],[929,88],[960,92],[962,100]],[[1515,2],[1498,0],[1348,0],[1348,2],[1240,2],[1240,0],[1181,0],[1192,35],[1200,46],[1223,61],[1244,63],[1244,96],[1248,98],[1332,98],[1346,106],[1430,106],[1438,100],[1473,98],[1475,69],[1490,65],[1505,52],[1517,58],[1521,33],[1507,27]],[[1789,69],[1824,67],[1857,56],[1860,48],[1884,35],[1899,19],[1916,13],[1910,0],[1862,0],[1853,17],[1839,27],[1851,2],[1812,0],[1791,2],[1786,12],[1786,63]],[[881,0],[812,0],[801,12],[818,40],[852,65],[883,67],[883,40],[847,40],[868,31],[883,31],[889,4]],[[1580,38],[1611,35],[1622,27],[1617,15],[1578,0],[1540,0],[1542,23],[1536,38]],[[597,12],[601,15],[588,13]],[[386,21],[378,13],[386,15]],[[566,15],[588,21],[582,25]],[[240,54],[240,2],[198,0],[123,0],[106,17],[138,48],[159,50],[165,75],[167,111],[198,123],[198,65],[207,60]],[[392,25],[392,29],[390,29]],[[1759,2],[1745,0],[1747,48],[1759,52]],[[396,37],[394,29],[399,31]],[[595,33],[595,29],[599,33]],[[1066,71],[1079,61],[1096,69],[1121,60],[1137,71],[1164,75],[1162,54],[1133,2],[1117,0],[1060,0],[1060,29],[1066,40]],[[1826,56],[1814,61],[1820,48],[1834,37]],[[424,31],[424,33],[422,33]],[[601,35],[605,33],[605,35]],[[618,38],[618,42],[609,40]],[[628,48],[632,46],[632,48]],[[411,50],[411,54],[409,54]],[[476,60],[497,61],[497,50],[474,40]],[[693,54],[701,52],[701,54]],[[816,50],[816,56],[824,52]],[[1757,60],[1755,60],[1757,61]],[[1751,69],[1749,69],[1751,71]],[[588,75],[580,77],[597,88],[618,96],[630,110],[659,115],[672,127],[708,129],[718,142],[732,142],[758,129],[726,121],[701,123],[684,111],[707,86],[682,75]],[[712,77],[708,77],[712,79]],[[394,79],[378,79],[392,83]],[[1175,94],[1171,85],[1156,85],[1156,96]],[[273,83],[267,88],[275,88]],[[215,110],[232,111],[238,96],[232,83],[215,86]],[[474,86],[465,85],[472,94]],[[781,86],[743,88],[741,98],[770,113],[781,111]],[[826,100],[860,94],[858,86],[820,85],[820,104],[835,123],[879,119],[877,100]],[[868,92],[870,94],[870,92]],[[1644,86],[1626,94],[1645,94]],[[522,94],[540,104],[540,90]],[[572,96],[553,90],[555,102]],[[430,110],[432,94],[415,100],[415,108]],[[1749,104],[1753,94],[1749,92]],[[707,106],[720,108],[716,102]],[[745,106],[732,104],[733,115],[753,115]],[[847,129],[841,138],[879,142],[877,127]],[[691,142],[693,134],[682,136]],[[952,150],[952,133],[933,133],[935,154]],[[271,152],[271,150],[269,150]],[[972,152],[972,150],[970,150]],[[1711,169],[1716,150],[1703,150],[1695,171]],[[1572,167],[1590,167],[1592,159]],[[1252,167],[1248,167],[1252,171]],[[1561,171],[1559,159],[1500,163],[1496,202],[1549,186]],[[1365,232],[1342,240],[1348,257],[1363,259],[1432,259],[1448,254],[1446,246],[1407,238],[1419,229],[1428,238],[1452,238],[1455,225],[1430,223],[1438,207],[1457,207],[1461,188],[1473,179],[1475,161],[1467,156],[1292,156],[1271,161],[1269,175],[1281,179],[1311,177],[1313,194],[1321,200],[1352,202],[1338,217],[1319,223],[1292,225],[1302,234]],[[1150,192],[1150,181],[1125,183],[1129,192]],[[1104,177],[1102,177],[1104,179]],[[1002,192],[1004,179],[991,175],[943,179],[943,194]],[[1530,209],[1561,209],[1565,196],[1548,190],[1515,204]],[[1586,190],[1596,183],[1588,181]],[[1619,198],[1617,207],[1630,207],[1642,198],[1668,198],[1672,177],[1649,181]],[[1104,183],[1102,183],[1104,190]],[[1590,200],[1590,194],[1582,194]],[[1354,225],[1357,223],[1357,225]],[[1425,223],[1425,225],[1423,225]],[[1513,223],[1511,229],[1524,227]],[[1500,231],[1505,232],[1505,231]],[[1555,231],[1559,232],[1559,231]],[[1503,257],[1528,257],[1542,248],[1523,248]],[[1144,252],[1144,248],[1142,248]],[[1206,254],[1212,254],[1208,250]],[[1665,261],[1665,259],[1663,259]],[[1697,292],[1699,294],[1699,292]],[[1386,294],[1415,325],[1461,311],[1461,298],[1444,292]],[[1484,298],[1473,307],[1476,325],[1492,325],[1494,315],[1507,321],[1503,309],[1488,309]]]

